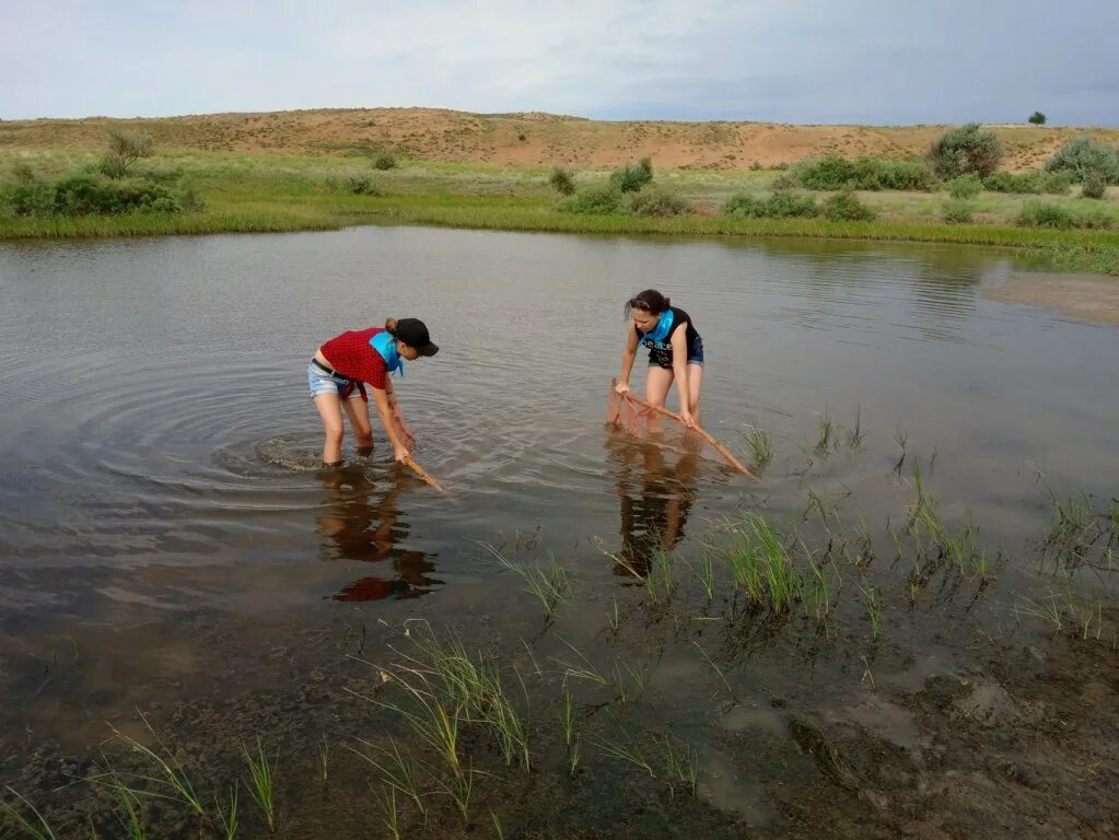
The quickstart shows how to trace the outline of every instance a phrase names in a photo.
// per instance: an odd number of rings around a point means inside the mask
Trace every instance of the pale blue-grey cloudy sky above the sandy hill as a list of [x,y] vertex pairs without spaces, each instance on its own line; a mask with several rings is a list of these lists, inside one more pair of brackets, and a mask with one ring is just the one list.
[[0,0],[0,119],[1119,125],[1119,0]]

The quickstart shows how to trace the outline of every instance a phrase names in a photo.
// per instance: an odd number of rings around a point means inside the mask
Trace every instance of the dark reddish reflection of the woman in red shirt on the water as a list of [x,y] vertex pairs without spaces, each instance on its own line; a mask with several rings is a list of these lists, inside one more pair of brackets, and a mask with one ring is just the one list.
[[427,576],[435,570],[434,555],[399,546],[408,536],[397,507],[404,483],[399,470],[379,490],[357,466],[323,473],[329,507],[319,517],[319,532],[332,544],[327,556],[360,563],[392,560],[393,566],[392,576],[360,577],[331,595],[335,601],[414,598],[443,583]]

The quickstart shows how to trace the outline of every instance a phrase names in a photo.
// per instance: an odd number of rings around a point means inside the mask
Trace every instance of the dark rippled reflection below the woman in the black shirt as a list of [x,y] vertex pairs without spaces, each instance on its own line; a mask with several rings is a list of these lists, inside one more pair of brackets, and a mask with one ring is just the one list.
[[671,551],[684,539],[702,449],[689,437],[681,438],[679,450],[669,450],[623,432],[608,436],[621,506],[618,574],[643,577],[657,553]]

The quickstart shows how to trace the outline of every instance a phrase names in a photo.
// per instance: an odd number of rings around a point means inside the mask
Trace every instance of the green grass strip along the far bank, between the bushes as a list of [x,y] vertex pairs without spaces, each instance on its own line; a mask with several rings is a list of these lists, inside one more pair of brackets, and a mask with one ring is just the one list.
[[[18,155],[18,157],[17,157]],[[16,160],[44,176],[58,176],[95,159],[88,151],[51,150],[0,154],[0,172]],[[7,160],[6,160],[7,159]],[[142,171],[180,171],[205,210],[117,217],[0,218],[0,239],[272,233],[337,229],[352,225],[429,225],[493,230],[667,236],[819,237],[937,242],[1029,249],[1053,267],[1119,274],[1119,232],[1051,230],[1015,224],[1024,198],[985,192],[976,204],[982,224],[947,225],[933,194],[875,192],[859,198],[875,221],[737,219],[717,208],[743,188],[767,189],[773,172],[660,172],[657,183],[696,205],[696,215],[649,218],[579,216],[554,209],[551,169],[405,162],[374,172],[364,159],[328,155],[237,154],[166,150]],[[368,176],[382,196],[355,196],[347,178]],[[581,187],[605,183],[609,171],[576,173]],[[1070,207],[1079,199],[1054,199]],[[1099,202],[1119,224],[1119,201]]]

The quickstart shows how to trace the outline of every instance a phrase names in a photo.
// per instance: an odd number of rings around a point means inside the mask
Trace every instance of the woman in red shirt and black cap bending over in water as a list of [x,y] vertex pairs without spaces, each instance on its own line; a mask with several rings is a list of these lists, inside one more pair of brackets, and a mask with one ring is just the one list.
[[436,352],[439,347],[432,343],[426,325],[415,318],[389,318],[383,328],[350,330],[322,345],[307,367],[307,384],[322,418],[323,465],[342,463],[344,409],[357,436],[358,453],[367,455],[373,451],[366,385],[373,388],[373,400],[394,456],[397,461],[407,457],[412,435],[401,417],[388,375],[399,371],[403,376],[405,360]]

